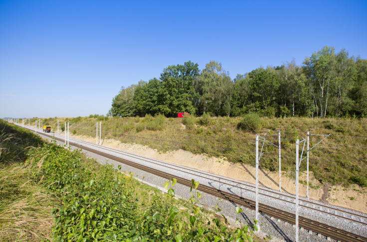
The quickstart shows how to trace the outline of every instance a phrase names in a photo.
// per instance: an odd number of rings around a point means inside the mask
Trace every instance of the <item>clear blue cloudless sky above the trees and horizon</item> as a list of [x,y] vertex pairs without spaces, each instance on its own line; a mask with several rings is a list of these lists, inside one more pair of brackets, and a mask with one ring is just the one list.
[[0,0],[0,117],[105,115],[168,65],[234,78],[325,45],[367,58],[366,0]]

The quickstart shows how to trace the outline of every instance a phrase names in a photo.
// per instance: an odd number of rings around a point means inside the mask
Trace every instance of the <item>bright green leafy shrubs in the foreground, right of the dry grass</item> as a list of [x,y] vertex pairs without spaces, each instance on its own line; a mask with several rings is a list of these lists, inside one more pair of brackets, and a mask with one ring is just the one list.
[[[188,209],[180,211],[175,204],[175,178],[164,183],[168,202],[154,196],[141,209],[131,178],[111,165],[86,168],[79,150],[70,151],[55,143],[32,148],[28,155],[30,176],[36,181],[43,179],[58,200],[52,209],[55,241],[65,238],[72,241],[219,241],[222,237],[249,239],[252,236],[247,226],[232,230],[219,219],[203,214],[198,206],[199,182],[193,179]],[[211,222],[213,225],[209,226]]]

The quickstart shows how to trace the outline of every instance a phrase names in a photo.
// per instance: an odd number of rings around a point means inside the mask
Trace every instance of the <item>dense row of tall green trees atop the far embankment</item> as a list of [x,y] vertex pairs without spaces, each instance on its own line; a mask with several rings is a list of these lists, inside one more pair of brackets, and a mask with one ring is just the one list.
[[169,65],[159,79],[122,86],[110,116],[145,116],[177,112],[213,116],[342,117],[367,115],[367,60],[325,46],[303,61],[259,67],[231,79],[222,64],[203,70],[191,61]]

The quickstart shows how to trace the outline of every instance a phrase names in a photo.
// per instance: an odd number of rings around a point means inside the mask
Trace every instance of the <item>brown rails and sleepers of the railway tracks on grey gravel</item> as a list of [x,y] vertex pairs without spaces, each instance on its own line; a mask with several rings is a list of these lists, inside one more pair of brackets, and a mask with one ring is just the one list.
[[[34,131],[32,129],[30,129],[30,130]],[[48,136],[48,137],[52,137],[52,136],[54,137],[54,135],[49,135],[49,134],[45,134],[45,133],[42,133],[42,135],[45,135],[45,136]],[[59,137],[54,137],[54,138],[56,140],[59,140],[59,141],[64,141],[63,138],[59,138]],[[82,141],[82,140],[80,140],[80,141]],[[90,144],[90,143],[88,143],[88,144]],[[124,159],[124,158],[118,157],[116,155],[112,155],[112,154],[109,154],[109,153],[106,153],[106,152],[102,152],[102,151],[93,149],[91,147],[87,147],[87,146],[82,145],[82,144],[77,143],[77,142],[70,142],[70,145],[73,145],[75,147],[78,147],[78,148],[81,148],[81,149],[84,149],[84,150],[87,150],[87,151],[90,151],[90,152],[93,152],[93,153],[96,153],[96,154],[99,154],[99,155],[102,155],[104,157],[116,160],[118,162],[127,164],[129,166],[144,170],[146,172],[156,174],[156,175],[161,176],[161,177],[166,178],[166,179],[176,178],[178,183],[181,183],[181,184],[189,186],[189,187],[191,186],[191,179],[190,180],[185,179],[185,178],[182,178],[182,177],[177,176],[177,175],[172,175],[170,173],[163,172],[163,171],[151,168],[149,166],[138,164],[138,163],[130,161],[128,159]],[[106,147],[101,146],[101,145],[96,145],[96,146],[106,148]],[[112,148],[109,148],[109,149],[112,150]],[[115,151],[115,150],[113,150],[113,151]],[[126,153],[126,152],[124,152],[124,153]],[[135,156],[139,156],[139,155],[135,155]],[[143,157],[143,156],[141,156],[141,157]],[[144,157],[144,158],[146,159],[146,157]],[[154,160],[154,159],[152,159],[152,160]],[[215,187],[207,186],[207,185],[204,185],[204,184],[200,184],[199,187],[198,187],[198,190],[200,190],[202,192],[206,192],[208,194],[212,194],[212,195],[220,197],[222,199],[229,200],[229,201],[234,202],[238,205],[241,205],[241,206],[244,206],[244,207],[247,207],[247,208],[250,208],[250,209],[255,209],[255,201],[253,201],[251,199],[247,199],[247,198],[244,198],[244,197],[241,197],[241,196],[238,196],[238,195],[220,190],[220,189],[215,188]],[[282,195],[285,195],[285,194],[282,194]],[[286,196],[289,196],[289,197],[293,198],[293,196],[291,196],[291,195],[286,195]],[[276,199],[276,198],[274,198],[274,199]],[[317,204],[317,206],[320,206],[319,203],[315,203],[315,204]],[[309,207],[309,206],[306,206],[306,205],[303,205],[303,206],[312,209],[312,207]],[[328,206],[325,206],[325,207],[328,207]],[[327,208],[327,209],[329,210],[329,208]],[[333,209],[335,209],[335,208],[333,208]],[[287,212],[287,211],[284,211],[284,210],[281,210],[281,209],[278,209],[278,208],[274,208],[274,207],[271,207],[271,206],[268,206],[268,205],[262,204],[262,203],[259,203],[259,212],[261,212],[263,214],[267,214],[269,216],[273,216],[273,217],[281,219],[283,221],[295,224],[295,214],[293,214],[291,212]],[[326,211],[323,211],[323,212],[326,212]],[[342,212],[346,213],[346,211],[342,211]],[[330,213],[330,214],[333,215],[333,216],[343,217],[344,219],[353,220],[355,222],[360,222],[360,223],[366,225],[366,222],[361,221],[361,219],[360,220],[350,219],[350,218],[346,218],[344,215],[337,215],[337,214],[332,214],[332,213]],[[353,213],[353,216],[356,216],[356,214]],[[350,231],[346,231],[346,230],[343,230],[343,229],[340,229],[340,228],[337,228],[337,227],[334,227],[334,226],[330,226],[328,224],[325,224],[325,223],[322,223],[322,222],[319,222],[319,221],[315,221],[315,220],[312,220],[312,219],[309,219],[309,218],[306,218],[306,217],[303,217],[303,216],[299,216],[299,226],[303,227],[305,229],[308,229],[308,230],[312,230],[313,232],[323,234],[324,236],[331,237],[331,238],[334,238],[336,240],[340,240],[340,241],[362,241],[362,242],[367,242],[366,237],[363,237],[363,236],[360,236],[358,234],[352,233]]]

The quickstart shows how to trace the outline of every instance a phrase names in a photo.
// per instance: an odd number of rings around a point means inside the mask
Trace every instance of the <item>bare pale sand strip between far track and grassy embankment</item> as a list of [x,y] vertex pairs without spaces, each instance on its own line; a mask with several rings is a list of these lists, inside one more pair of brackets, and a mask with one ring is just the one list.
[[[95,138],[90,136],[73,135],[73,137],[95,142]],[[105,139],[103,145],[255,184],[256,169],[247,164],[230,163],[223,158],[209,157],[204,154],[193,154],[182,149],[164,153],[145,145],[121,143],[115,139]],[[367,212],[366,189],[357,185],[352,185],[348,189],[340,185],[322,186],[320,182],[314,178],[312,172],[310,173],[309,179],[314,187],[320,186],[320,188],[309,189],[311,199],[323,200],[333,205]],[[300,180],[306,180],[306,172],[300,174]],[[278,181],[278,172],[270,172],[267,170],[259,171],[259,183],[261,186],[279,190]],[[299,185],[300,195],[306,197],[306,185],[301,183]],[[292,194],[296,193],[296,181],[290,178],[286,173],[282,174],[282,191]]]

